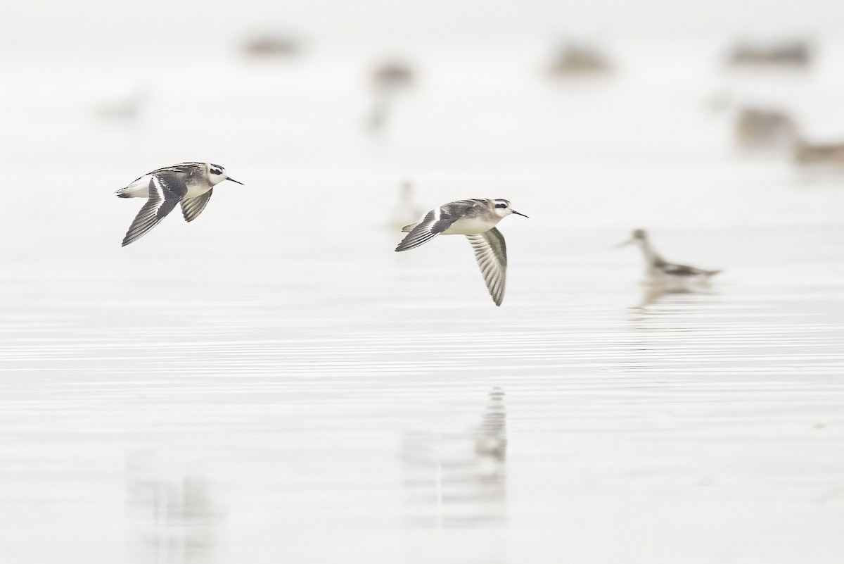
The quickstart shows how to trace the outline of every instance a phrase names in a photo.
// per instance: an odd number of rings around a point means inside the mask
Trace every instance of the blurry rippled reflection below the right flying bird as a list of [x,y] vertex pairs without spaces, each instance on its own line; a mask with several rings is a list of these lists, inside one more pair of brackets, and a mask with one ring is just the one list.
[[[504,392],[493,388],[473,429],[405,433],[405,536],[411,561],[431,561],[446,550],[488,564],[504,561],[506,428]],[[436,542],[431,542],[434,531]]]

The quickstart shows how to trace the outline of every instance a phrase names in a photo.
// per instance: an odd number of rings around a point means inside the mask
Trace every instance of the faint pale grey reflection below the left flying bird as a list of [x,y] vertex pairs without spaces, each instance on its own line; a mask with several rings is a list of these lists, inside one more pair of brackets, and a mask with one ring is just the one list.
[[127,460],[128,550],[137,564],[211,564],[219,561],[224,512],[214,483],[162,467],[149,453]]

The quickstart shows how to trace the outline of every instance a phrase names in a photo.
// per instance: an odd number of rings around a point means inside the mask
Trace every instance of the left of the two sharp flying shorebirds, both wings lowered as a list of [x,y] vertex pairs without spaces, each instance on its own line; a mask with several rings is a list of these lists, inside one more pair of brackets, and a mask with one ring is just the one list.
[[224,180],[237,182],[227,176],[225,168],[220,165],[181,163],[149,172],[121,188],[117,191],[118,198],[148,198],[129,226],[122,247],[149,233],[176,208],[177,203],[181,203],[181,214],[185,221],[197,219],[211,199],[214,186]]

